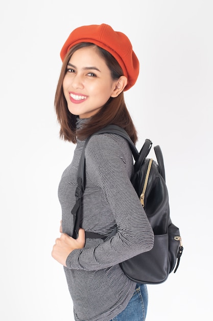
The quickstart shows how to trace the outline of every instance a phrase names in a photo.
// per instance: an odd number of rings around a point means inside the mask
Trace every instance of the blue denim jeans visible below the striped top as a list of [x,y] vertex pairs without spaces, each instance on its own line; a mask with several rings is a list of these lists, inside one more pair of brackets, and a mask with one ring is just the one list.
[[126,307],[111,321],[145,321],[148,306],[146,284],[137,284],[135,291]]

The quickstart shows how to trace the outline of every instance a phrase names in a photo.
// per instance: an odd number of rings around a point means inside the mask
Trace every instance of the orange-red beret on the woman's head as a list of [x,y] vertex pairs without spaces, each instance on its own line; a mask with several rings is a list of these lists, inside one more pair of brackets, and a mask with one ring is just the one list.
[[124,33],[114,31],[106,24],[76,28],[70,33],[61,49],[62,61],[70,48],[83,42],[95,44],[112,54],[128,79],[125,91],[135,84],[139,73],[139,62],[129,38]]

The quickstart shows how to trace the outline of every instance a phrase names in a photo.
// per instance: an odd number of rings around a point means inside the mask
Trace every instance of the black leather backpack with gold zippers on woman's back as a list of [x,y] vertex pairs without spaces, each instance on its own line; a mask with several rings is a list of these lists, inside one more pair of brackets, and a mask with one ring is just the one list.
[[[144,207],[154,232],[154,246],[152,250],[122,262],[120,264],[121,268],[136,283],[160,284],[168,278],[174,269],[174,273],[176,272],[183,251],[179,228],[172,223],[170,217],[169,197],[167,186],[165,185],[165,171],[161,149],[159,146],[154,147],[157,158],[157,161],[155,161],[147,158],[152,147],[152,142],[149,139],[146,139],[138,153],[129,135],[121,127],[109,125],[93,135],[101,133],[115,133],[127,139],[135,159],[134,174],[131,182],[140,198],[141,206]],[[74,216],[73,237],[75,238],[78,235],[80,225],[81,199],[85,186],[84,150],[90,137],[85,142],[78,169],[76,205],[72,210]],[[97,233],[86,232],[86,237],[103,238],[106,241],[115,235],[116,232],[117,229],[112,231],[107,237]]]

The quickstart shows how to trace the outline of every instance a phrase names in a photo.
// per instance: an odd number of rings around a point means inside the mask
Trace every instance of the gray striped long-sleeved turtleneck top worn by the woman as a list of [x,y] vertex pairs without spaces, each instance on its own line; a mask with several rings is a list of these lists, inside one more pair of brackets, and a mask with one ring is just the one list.
[[[86,119],[78,119],[77,128]],[[62,231],[72,236],[77,170],[85,141],[77,141],[72,163],[59,184]],[[135,283],[119,263],[153,246],[153,231],[131,185],[133,158],[127,141],[116,134],[91,137],[86,150],[86,187],[83,196],[82,228],[108,235],[107,242],[87,239],[83,249],[74,250],[64,267],[77,321],[109,321],[123,311]]]

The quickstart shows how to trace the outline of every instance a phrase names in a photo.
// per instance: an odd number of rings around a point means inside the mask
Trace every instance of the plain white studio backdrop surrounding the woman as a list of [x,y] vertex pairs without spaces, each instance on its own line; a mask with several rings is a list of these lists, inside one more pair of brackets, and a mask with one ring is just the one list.
[[212,1],[7,0],[0,14],[1,320],[74,320],[51,257],[58,184],[75,148],[59,139],[54,95],[69,33],[101,23],[127,34],[139,58],[126,103],[138,149],[145,138],[162,149],[184,246],[176,274],[148,286],[147,321],[211,319]]

